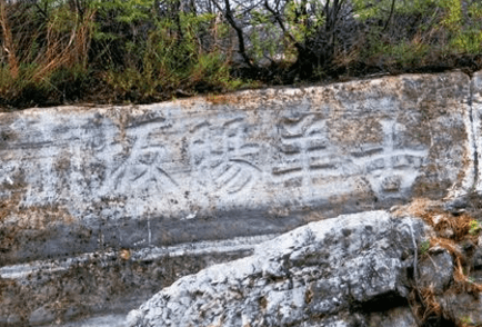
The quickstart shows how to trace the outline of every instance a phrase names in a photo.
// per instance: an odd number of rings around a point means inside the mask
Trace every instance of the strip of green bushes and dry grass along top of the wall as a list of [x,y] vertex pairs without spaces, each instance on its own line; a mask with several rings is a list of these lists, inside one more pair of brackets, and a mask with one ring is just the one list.
[[0,107],[482,66],[476,0],[0,0]]

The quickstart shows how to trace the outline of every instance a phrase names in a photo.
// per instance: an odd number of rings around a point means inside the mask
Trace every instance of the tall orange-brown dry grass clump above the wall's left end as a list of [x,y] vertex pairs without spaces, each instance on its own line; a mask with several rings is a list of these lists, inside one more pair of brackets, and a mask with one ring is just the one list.
[[66,90],[80,98],[96,13],[59,6],[42,16],[32,6],[0,0],[0,106],[56,103],[66,100]]

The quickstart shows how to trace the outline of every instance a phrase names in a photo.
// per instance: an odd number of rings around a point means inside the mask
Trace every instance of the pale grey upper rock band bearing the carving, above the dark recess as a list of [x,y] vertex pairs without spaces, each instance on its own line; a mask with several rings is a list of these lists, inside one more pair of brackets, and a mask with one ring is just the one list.
[[[287,92],[287,101],[301,98],[299,107],[285,109],[271,100],[255,108],[192,100],[185,108],[181,101],[131,111],[89,109],[74,117],[26,111],[0,125],[16,136],[0,147],[1,196],[10,197],[11,187],[22,185],[22,205],[61,202],[79,217],[96,204],[102,215],[175,216],[183,210],[185,218],[273,199],[280,205],[295,199],[300,206],[353,192],[403,199],[421,176],[429,176],[425,184],[455,182],[453,171],[461,166],[436,168],[452,164],[431,142],[440,139],[438,121],[463,120],[463,105],[456,103],[464,102],[456,98],[449,107],[441,97],[439,106],[431,98],[431,106],[444,111],[422,115],[425,107],[418,106],[423,99],[404,95],[403,82],[393,81],[390,97],[370,93],[370,83],[353,83],[355,95],[368,95],[360,103],[333,100],[347,91],[325,87],[312,88],[310,96]],[[443,130],[443,148],[436,149],[460,149],[450,128]]]

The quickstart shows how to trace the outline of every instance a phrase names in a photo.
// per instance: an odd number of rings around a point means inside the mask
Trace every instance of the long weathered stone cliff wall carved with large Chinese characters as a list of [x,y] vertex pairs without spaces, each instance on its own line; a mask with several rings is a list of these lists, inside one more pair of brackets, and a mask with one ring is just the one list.
[[481,80],[0,113],[0,324],[127,311],[305,222],[481,190]]

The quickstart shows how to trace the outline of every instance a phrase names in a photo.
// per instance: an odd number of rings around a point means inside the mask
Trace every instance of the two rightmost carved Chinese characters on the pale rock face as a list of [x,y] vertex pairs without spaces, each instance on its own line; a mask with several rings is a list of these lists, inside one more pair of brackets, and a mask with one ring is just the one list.
[[280,135],[273,179],[285,187],[313,188],[361,177],[379,197],[399,196],[413,185],[428,156],[426,147],[403,147],[400,131],[405,129],[394,120],[380,120],[382,142],[364,142],[360,136],[358,145],[342,150],[330,140],[327,119],[308,115],[288,121]]

